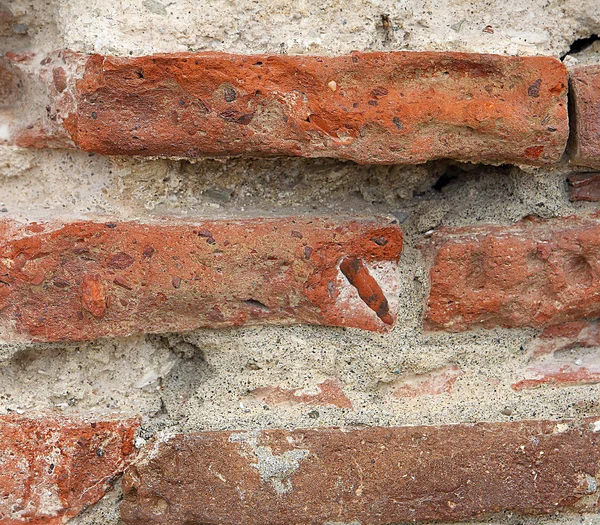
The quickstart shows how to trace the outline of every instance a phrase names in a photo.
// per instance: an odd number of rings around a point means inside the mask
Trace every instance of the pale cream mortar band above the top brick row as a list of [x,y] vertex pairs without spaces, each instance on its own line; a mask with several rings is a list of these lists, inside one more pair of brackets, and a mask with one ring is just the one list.
[[[55,9],[64,47],[127,55],[163,51],[345,53],[354,49],[461,50],[555,55],[600,32],[595,0],[507,4],[448,1],[64,0]],[[39,7],[38,9],[41,9]],[[42,44],[46,42],[42,41]]]

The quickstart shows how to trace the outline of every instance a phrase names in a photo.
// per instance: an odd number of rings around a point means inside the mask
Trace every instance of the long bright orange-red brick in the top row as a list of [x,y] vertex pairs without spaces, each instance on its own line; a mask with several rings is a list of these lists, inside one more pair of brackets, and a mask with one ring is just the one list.
[[66,52],[46,61],[40,75],[49,117],[16,125],[21,146],[548,164],[560,159],[568,137],[567,72],[551,57]]

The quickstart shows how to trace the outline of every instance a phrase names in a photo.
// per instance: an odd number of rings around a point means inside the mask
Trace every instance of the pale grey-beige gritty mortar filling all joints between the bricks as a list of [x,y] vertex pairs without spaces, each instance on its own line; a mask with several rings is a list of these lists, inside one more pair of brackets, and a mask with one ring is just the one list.
[[[66,47],[116,55],[200,50],[333,55],[395,49],[560,57],[577,39],[600,33],[597,0],[5,3],[18,27],[0,36],[0,52]],[[593,47],[568,58],[600,63]],[[422,235],[439,225],[510,224],[529,214],[597,209],[593,203],[569,202],[568,172],[566,164],[524,171],[447,162],[415,167],[284,158],[188,162],[3,147],[0,213],[6,217],[394,214],[405,248],[400,313],[388,334],[301,326],[87,344],[4,344],[0,412],[140,413],[139,446],[157,432],[598,416],[600,385],[511,388],[526,366],[536,330],[421,330],[426,278],[415,244]],[[398,377],[448,364],[463,371],[451,393],[386,395]],[[339,378],[354,410],[244,401],[255,388],[310,390],[329,377]],[[118,524],[119,499],[116,488],[72,523]],[[587,525],[600,523],[600,517],[506,514],[486,523]]]

